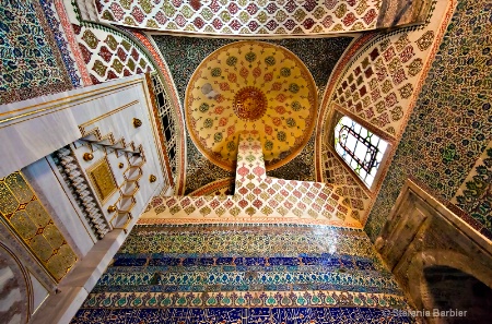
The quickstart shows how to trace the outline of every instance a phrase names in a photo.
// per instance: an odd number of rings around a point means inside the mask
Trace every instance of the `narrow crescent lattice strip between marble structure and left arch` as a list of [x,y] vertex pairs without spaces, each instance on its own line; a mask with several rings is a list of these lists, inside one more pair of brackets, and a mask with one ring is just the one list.
[[152,74],[152,84],[154,86],[154,94],[157,104],[159,117],[162,121],[164,137],[166,140],[167,156],[169,157],[171,171],[173,172],[173,178],[176,181],[176,170],[177,170],[177,132],[176,132],[176,118],[175,108],[172,105],[169,95],[166,88],[161,83],[159,75],[156,73]]

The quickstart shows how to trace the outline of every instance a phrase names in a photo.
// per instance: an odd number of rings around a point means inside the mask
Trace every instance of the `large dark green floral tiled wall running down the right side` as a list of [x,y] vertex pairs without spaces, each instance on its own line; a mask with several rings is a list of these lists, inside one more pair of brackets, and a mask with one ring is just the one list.
[[[408,177],[446,204],[485,151],[492,137],[490,9],[490,1],[459,1],[371,213],[372,239]],[[492,238],[487,218],[458,216]]]

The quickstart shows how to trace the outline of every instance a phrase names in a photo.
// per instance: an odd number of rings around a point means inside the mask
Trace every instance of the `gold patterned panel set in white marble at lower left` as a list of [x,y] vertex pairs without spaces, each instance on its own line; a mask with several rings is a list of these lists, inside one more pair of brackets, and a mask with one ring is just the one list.
[[21,172],[0,179],[0,217],[57,281],[75,264],[75,253]]

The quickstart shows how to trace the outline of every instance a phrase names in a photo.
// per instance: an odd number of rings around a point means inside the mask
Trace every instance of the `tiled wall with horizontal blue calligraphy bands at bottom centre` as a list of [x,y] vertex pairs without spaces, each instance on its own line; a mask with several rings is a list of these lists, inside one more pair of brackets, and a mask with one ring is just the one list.
[[390,317],[407,309],[361,230],[154,225],[133,229],[71,323],[409,323]]

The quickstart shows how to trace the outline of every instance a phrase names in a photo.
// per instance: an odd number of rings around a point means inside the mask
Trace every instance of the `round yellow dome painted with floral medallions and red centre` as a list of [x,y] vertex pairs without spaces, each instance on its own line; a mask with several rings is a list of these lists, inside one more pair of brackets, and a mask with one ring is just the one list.
[[309,140],[317,111],[307,68],[285,48],[261,41],[226,45],[197,68],[185,98],[194,143],[213,164],[235,168],[238,134],[261,134],[267,169],[280,167]]

